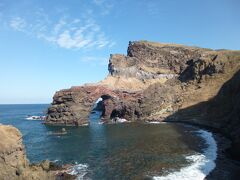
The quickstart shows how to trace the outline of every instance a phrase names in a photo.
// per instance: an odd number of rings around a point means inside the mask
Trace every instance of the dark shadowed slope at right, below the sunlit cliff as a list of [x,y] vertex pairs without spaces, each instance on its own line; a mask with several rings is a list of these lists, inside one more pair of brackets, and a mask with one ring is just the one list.
[[204,125],[220,131],[232,140],[229,152],[240,160],[240,70],[209,101],[178,110],[167,120]]

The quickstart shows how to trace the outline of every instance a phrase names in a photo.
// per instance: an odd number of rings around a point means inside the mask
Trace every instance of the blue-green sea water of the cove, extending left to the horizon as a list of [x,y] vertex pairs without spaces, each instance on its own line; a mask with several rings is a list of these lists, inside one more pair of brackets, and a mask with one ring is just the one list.
[[[49,159],[76,164],[79,179],[202,179],[215,164],[216,145],[211,133],[180,124],[99,124],[100,112],[90,125],[51,127],[42,121],[48,105],[0,105],[0,123],[19,128],[30,162]],[[192,176],[190,176],[190,171]],[[180,173],[180,174],[176,174]],[[189,178],[188,178],[189,177]]]

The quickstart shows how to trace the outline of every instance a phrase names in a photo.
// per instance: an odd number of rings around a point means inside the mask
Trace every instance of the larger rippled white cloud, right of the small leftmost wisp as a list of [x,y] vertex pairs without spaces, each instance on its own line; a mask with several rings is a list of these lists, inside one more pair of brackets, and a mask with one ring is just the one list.
[[79,19],[60,20],[54,25],[53,32],[50,35],[43,35],[42,37],[66,49],[103,48],[110,47],[113,43],[108,40],[100,26],[92,19],[87,19],[85,22]]

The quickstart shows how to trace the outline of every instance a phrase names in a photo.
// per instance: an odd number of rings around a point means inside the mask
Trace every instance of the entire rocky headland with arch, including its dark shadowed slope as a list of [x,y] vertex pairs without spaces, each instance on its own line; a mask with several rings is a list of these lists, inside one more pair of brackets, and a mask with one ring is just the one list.
[[56,92],[45,123],[87,125],[97,108],[104,122],[198,124],[229,137],[240,159],[240,51],[130,42],[126,56],[110,56],[108,70],[99,83]]

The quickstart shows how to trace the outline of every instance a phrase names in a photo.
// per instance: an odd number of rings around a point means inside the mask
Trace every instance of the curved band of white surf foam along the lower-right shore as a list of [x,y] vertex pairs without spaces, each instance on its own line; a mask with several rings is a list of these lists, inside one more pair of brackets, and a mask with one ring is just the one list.
[[187,156],[186,159],[193,162],[190,166],[182,168],[178,172],[167,176],[153,177],[155,180],[203,180],[214,168],[217,158],[217,143],[212,133],[204,130],[198,130],[198,135],[205,139],[207,148],[203,154]]

